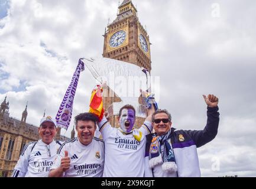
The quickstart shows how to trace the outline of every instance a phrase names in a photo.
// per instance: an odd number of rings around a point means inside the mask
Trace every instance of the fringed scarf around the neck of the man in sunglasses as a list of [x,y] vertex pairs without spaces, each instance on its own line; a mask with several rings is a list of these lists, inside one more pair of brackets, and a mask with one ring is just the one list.
[[[161,136],[153,136],[150,145],[149,153],[149,165],[150,168],[154,168],[156,165],[162,164],[161,168],[163,171],[176,172],[177,165],[171,147],[171,130]],[[161,146],[164,146],[163,153],[161,153]]]

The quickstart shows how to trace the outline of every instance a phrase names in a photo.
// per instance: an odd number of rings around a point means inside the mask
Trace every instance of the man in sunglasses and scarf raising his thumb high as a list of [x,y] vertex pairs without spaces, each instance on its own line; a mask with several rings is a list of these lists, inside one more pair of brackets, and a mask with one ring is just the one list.
[[155,133],[147,135],[146,177],[200,177],[197,149],[212,141],[218,132],[218,97],[203,95],[207,107],[207,124],[200,131],[176,130],[165,109],[152,115]]

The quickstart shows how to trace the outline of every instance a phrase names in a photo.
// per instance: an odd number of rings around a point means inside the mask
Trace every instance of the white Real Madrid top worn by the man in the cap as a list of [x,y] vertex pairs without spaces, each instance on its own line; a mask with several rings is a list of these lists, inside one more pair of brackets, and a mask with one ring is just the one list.
[[62,143],[53,141],[47,145],[40,139],[25,145],[12,177],[48,177]]

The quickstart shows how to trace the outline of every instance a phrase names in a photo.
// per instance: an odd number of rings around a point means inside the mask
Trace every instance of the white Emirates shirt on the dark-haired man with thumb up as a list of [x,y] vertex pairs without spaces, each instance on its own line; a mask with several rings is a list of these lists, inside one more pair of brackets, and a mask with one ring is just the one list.
[[52,169],[60,167],[61,158],[67,151],[70,168],[63,177],[102,177],[104,168],[104,142],[93,138],[89,145],[83,145],[76,137],[65,142],[59,149]]

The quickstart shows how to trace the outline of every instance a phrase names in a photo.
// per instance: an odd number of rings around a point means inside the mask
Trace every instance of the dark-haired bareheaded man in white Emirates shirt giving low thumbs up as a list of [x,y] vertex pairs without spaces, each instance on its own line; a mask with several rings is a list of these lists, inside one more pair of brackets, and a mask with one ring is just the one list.
[[49,177],[102,177],[104,143],[94,137],[97,120],[92,113],[74,118],[77,137],[61,145]]

